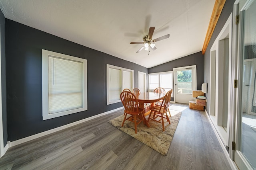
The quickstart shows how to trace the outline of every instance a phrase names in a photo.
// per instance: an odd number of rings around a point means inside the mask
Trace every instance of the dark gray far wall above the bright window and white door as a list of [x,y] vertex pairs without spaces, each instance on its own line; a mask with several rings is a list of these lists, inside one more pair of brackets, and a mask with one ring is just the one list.
[[191,65],[196,65],[197,90],[201,90],[201,85],[204,83],[204,56],[202,52],[149,68],[148,73],[173,71],[173,68]]

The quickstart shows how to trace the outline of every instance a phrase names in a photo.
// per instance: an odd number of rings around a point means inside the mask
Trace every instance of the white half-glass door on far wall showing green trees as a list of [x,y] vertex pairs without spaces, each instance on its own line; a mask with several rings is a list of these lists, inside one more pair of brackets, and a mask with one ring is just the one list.
[[192,91],[196,90],[196,65],[173,68],[175,95],[174,102],[189,104],[194,100]]

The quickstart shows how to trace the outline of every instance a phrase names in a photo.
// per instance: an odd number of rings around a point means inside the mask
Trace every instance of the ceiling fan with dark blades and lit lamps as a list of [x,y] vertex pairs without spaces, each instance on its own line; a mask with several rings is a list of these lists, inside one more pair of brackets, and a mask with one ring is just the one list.
[[170,37],[170,34],[167,34],[167,35],[164,35],[162,37],[159,37],[157,39],[153,39],[152,40],[152,35],[154,33],[154,30],[155,30],[155,27],[150,27],[149,28],[149,31],[148,31],[148,35],[146,35],[144,38],[143,38],[143,42],[131,42],[130,44],[144,44],[136,53],[139,53],[140,51],[142,51],[142,49],[145,48],[146,51],[149,50],[149,47],[152,49],[152,50],[156,50],[156,47],[155,47],[155,42],[156,41],[160,41],[160,40],[163,40],[163,39],[166,39],[166,38],[169,38]]

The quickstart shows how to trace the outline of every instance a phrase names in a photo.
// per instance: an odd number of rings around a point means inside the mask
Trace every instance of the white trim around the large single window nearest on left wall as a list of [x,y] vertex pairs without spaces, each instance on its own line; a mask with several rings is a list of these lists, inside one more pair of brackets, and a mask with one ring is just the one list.
[[[49,55],[83,63],[83,107],[82,108],[49,114],[49,89],[48,89]],[[85,110],[87,110],[87,60],[42,49],[42,117],[43,117],[43,120],[52,119],[52,118],[60,117],[64,115],[69,115],[72,113],[78,113],[80,111],[85,111]]]

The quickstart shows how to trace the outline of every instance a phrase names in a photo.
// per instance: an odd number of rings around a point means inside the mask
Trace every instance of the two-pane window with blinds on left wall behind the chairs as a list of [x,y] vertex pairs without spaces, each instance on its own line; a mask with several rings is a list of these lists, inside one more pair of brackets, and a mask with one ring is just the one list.
[[121,102],[120,93],[133,89],[133,70],[107,64],[107,105]]

